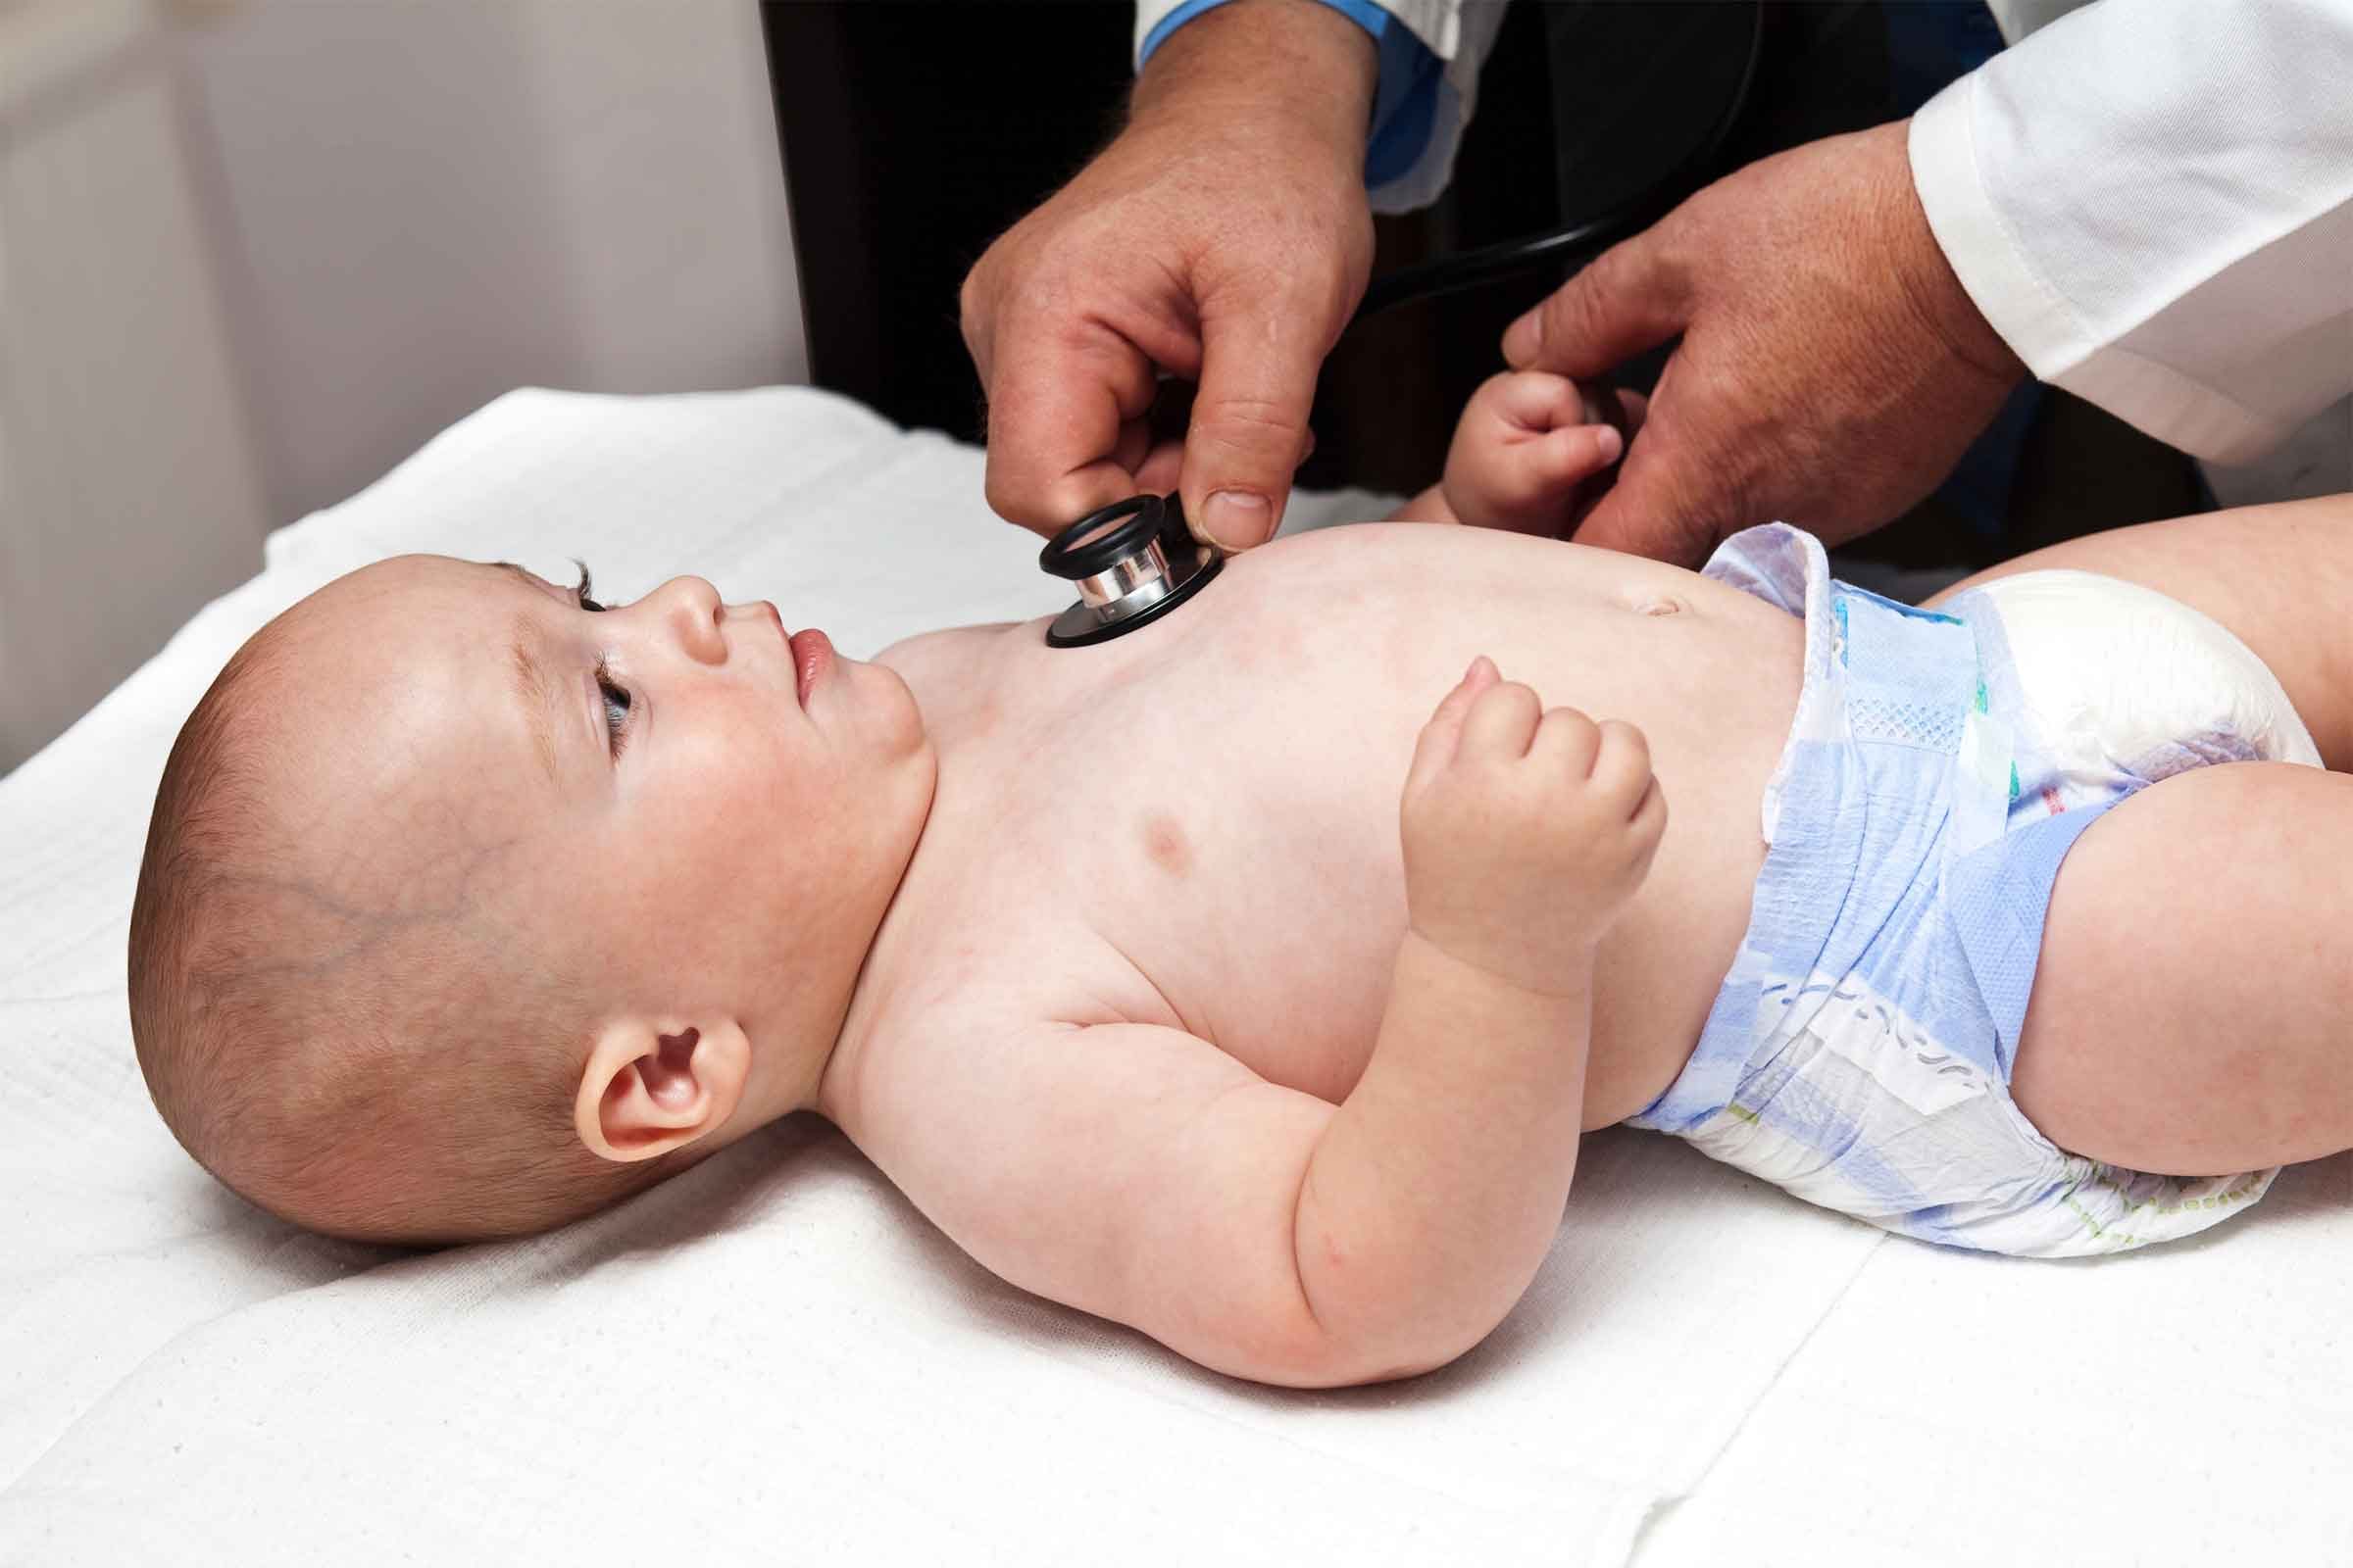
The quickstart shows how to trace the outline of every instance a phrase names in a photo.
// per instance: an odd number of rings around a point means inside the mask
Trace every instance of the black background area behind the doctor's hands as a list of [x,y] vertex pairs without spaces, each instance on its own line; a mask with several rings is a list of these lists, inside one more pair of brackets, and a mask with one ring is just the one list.
[[[904,425],[979,442],[958,287],[998,233],[1118,132],[1132,7],[772,0],[762,16],[812,378]],[[1918,96],[1889,59],[1875,0],[1765,5],[1748,103],[1713,165],[1682,169],[1739,82],[1758,16],[1753,0],[1513,5],[1452,186],[1424,212],[1374,221],[1374,275],[1593,216],[1678,169],[1704,183],[1897,118],[1906,87]],[[1301,482],[1431,484],[1461,404],[1501,369],[1504,327],[1562,275],[1355,322],[1325,362]],[[1621,383],[1647,386],[1659,360],[1626,367]],[[1191,388],[1169,383],[1155,418],[1181,430],[1188,400]],[[1906,567],[1981,564],[2205,503],[2195,465],[2174,449],[2064,393],[2042,404],[2007,541],[1986,541],[1929,498],[1859,550]]]

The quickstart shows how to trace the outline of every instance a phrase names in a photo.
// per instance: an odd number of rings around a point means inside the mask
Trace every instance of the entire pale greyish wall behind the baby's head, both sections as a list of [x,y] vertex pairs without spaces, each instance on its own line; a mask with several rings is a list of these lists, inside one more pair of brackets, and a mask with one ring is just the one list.
[[0,771],[508,388],[805,378],[755,0],[0,0]]

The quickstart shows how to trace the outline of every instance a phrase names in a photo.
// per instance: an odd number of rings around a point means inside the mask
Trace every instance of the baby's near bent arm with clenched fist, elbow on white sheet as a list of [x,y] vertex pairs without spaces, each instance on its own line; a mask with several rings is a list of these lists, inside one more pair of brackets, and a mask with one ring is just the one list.
[[1339,1107],[1155,1025],[901,1053],[866,1152],[974,1258],[1242,1378],[1440,1366],[1513,1307],[1577,1159],[1593,945],[1666,809],[1640,736],[1482,665],[1407,780],[1412,931]]

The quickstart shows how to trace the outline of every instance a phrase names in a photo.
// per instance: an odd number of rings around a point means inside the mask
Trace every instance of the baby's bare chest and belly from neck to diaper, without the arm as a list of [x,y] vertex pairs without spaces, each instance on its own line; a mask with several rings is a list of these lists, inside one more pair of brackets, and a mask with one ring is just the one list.
[[1346,1098],[1407,922],[1407,764],[1487,654],[1546,705],[1649,736],[1671,825],[1605,950],[1595,1072],[1614,1056],[1649,1079],[1678,1039],[1687,1051],[1744,924],[1795,642],[1774,682],[1781,628],[1765,607],[1642,599],[1614,578],[1529,592],[1435,576],[1341,585],[1313,616],[1245,578],[1224,604],[1202,595],[1158,649],[1111,644],[1118,663],[1087,670],[1042,646],[1007,658],[967,708],[976,722],[941,738],[925,844],[962,983],[1073,1023],[1181,1027],[1271,1081]]

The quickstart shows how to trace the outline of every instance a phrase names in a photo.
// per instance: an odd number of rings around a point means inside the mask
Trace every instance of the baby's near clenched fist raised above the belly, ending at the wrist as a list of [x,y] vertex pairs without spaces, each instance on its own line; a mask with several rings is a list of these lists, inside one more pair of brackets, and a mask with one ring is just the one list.
[[1414,933],[1541,992],[1642,886],[1666,797],[1633,724],[1546,710],[1478,658],[1421,729],[1402,827]]

